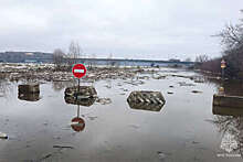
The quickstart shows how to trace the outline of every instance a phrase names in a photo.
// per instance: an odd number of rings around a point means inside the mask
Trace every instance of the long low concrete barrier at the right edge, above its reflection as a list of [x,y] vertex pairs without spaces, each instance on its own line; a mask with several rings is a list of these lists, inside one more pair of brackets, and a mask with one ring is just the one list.
[[243,109],[243,97],[213,95],[213,106],[233,107],[233,108],[242,108]]

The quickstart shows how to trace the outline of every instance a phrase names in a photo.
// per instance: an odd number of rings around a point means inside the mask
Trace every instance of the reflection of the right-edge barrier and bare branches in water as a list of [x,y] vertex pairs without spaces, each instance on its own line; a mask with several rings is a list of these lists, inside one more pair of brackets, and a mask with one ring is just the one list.
[[[219,132],[223,134],[222,143],[225,137],[228,140],[228,137],[232,137],[233,140],[236,141],[236,144],[230,149],[240,153],[243,158],[243,110],[239,108],[213,106],[212,111],[213,115],[216,115],[212,122],[219,128]],[[232,142],[232,140],[230,142]],[[221,148],[224,147],[222,147],[222,143]],[[229,144],[229,141],[225,141],[223,144],[225,143]],[[232,147],[233,143],[230,144],[230,147]]]

